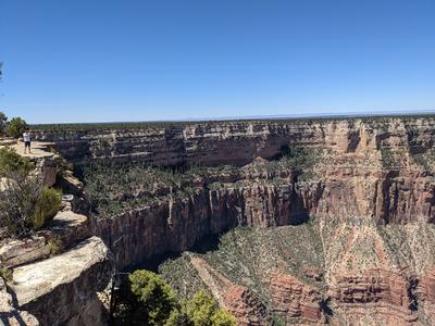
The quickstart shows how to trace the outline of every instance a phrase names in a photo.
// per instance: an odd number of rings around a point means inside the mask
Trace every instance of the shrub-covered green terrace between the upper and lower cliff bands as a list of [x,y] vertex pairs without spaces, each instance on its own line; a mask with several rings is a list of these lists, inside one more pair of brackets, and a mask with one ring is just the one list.
[[201,190],[249,186],[252,180],[273,185],[315,177],[316,153],[301,146],[285,146],[275,160],[233,165],[175,167],[145,163],[92,163],[82,172],[85,192],[95,211],[110,216],[161,200],[186,198]]

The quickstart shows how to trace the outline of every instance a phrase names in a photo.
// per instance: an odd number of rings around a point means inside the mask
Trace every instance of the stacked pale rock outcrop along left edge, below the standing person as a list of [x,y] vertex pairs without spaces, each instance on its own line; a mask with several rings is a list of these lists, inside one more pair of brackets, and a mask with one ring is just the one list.
[[[36,166],[30,177],[39,177],[46,187],[54,186],[60,158],[39,143],[29,159]],[[71,190],[75,184],[69,186],[69,180],[74,178],[70,175],[63,186]],[[0,190],[5,191],[10,181]],[[98,292],[107,288],[113,264],[107,246],[91,235],[88,217],[74,212],[76,201],[84,199],[63,196],[61,211],[32,237],[1,239],[0,324],[107,323],[108,311]]]

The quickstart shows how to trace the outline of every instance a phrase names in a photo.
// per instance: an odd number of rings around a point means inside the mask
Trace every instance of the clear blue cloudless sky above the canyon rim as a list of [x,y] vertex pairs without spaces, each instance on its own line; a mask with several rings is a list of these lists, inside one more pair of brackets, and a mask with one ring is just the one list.
[[1,0],[30,123],[435,109],[434,0]]

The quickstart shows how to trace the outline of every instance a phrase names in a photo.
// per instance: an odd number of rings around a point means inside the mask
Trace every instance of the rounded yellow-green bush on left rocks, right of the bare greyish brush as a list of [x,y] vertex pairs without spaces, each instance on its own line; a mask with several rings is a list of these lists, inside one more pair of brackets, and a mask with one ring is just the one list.
[[35,205],[34,226],[42,227],[58,213],[62,203],[62,192],[53,188],[44,187]]

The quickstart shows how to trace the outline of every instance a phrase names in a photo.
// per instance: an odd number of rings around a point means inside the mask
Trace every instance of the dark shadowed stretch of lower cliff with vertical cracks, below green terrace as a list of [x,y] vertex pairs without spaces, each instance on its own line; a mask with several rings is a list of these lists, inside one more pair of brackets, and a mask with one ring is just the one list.
[[236,226],[299,224],[304,215],[296,208],[302,199],[293,199],[310,195],[291,188],[202,189],[185,199],[100,220],[95,233],[111,247],[119,267],[124,268],[167,252],[188,250],[203,237]]

